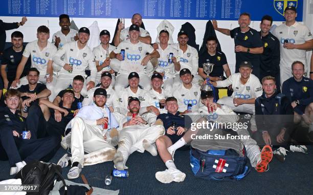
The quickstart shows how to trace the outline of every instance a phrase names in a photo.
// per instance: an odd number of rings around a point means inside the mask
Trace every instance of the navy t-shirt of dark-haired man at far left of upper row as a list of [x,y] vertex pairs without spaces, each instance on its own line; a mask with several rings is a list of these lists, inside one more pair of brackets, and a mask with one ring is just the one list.
[[[25,50],[25,46],[23,46],[23,49],[19,52],[14,51],[13,47],[10,47],[3,52],[1,63],[3,65],[7,65],[7,78],[9,82],[12,82],[15,79],[17,66],[21,58],[23,57],[24,50]],[[28,58],[25,64],[23,73],[20,75],[20,77],[26,76],[30,67],[31,67],[31,59]]]

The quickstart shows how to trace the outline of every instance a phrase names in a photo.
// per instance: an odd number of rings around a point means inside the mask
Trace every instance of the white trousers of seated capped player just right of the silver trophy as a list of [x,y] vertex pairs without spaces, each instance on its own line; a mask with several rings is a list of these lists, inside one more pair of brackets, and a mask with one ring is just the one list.
[[219,104],[225,104],[229,106],[233,111],[235,112],[242,112],[242,113],[249,113],[249,114],[255,114],[255,106],[254,104],[241,104],[237,107],[234,105],[234,98],[233,97],[222,97],[220,98],[217,103]]

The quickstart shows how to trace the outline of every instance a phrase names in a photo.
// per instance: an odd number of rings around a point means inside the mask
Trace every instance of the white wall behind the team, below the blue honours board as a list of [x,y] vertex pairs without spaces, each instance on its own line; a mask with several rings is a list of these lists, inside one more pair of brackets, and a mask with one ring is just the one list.
[[[307,14],[308,13],[308,3],[313,3],[313,0],[304,0],[304,9],[303,9],[303,21],[304,24],[306,24],[310,30],[313,32],[313,15]],[[251,13],[253,14],[253,13]],[[264,13],[265,15],[265,13]],[[3,21],[10,23],[15,21],[20,21],[21,17],[4,17],[0,16],[0,19]],[[72,19],[72,18],[71,18]],[[117,18],[73,18],[77,27],[88,27],[90,26],[93,21],[98,21],[99,29],[100,31],[103,29],[108,30],[111,33],[111,36],[113,36]],[[157,27],[161,23],[162,19],[145,19],[143,18],[144,25],[146,30],[150,32],[150,35],[152,37],[152,42],[155,41],[155,38],[157,37]],[[203,42],[203,36],[205,33],[205,27],[207,20],[177,20],[177,19],[169,19],[168,20],[173,27],[175,28],[173,33],[173,40],[176,40],[176,35],[178,31],[180,30],[181,26],[185,24],[187,21],[193,25],[193,27],[196,29],[196,43],[199,45],[199,47],[202,45]],[[51,36],[54,32],[59,31],[60,27],[58,25],[58,18],[57,17],[28,17],[28,21],[25,26],[19,27],[18,30],[21,31],[24,34],[24,41],[29,42],[36,39],[36,30],[37,27],[40,25],[46,25],[49,27]],[[125,18],[125,25],[130,26],[130,19]],[[251,21],[251,28],[254,28],[256,30],[260,30],[259,28],[260,21]],[[280,25],[281,21],[274,21],[273,25]],[[218,26],[221,28],[228,28],[228,29],[234,29],[238,27],[237,21],[226,21],[226,20],[220,20],[218,21]],[[7,31],[7,42],[10,42],[11,40],[11,33],[14,30]],[[223,35],[219,32],[217,33],[218,40],[220,41],[222,51],[226,54],[228,63],[230,65],[231,70],[234,70],[235,66],[235,53],[234,53],[234,41],[230,38],[230,36]],[[52,37],[50,37],[51,40]],[[233,72],[233,71],[232,71]]]

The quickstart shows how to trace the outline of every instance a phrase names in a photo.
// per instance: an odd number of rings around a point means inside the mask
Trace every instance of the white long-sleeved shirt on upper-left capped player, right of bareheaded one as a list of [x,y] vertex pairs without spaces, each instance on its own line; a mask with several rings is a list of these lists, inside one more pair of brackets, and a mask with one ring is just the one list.
[[[61,57],[64,55],[64,61]],[[78,49],[77,41],[68,42],[63,45],[53,56],[53,61],[61,68],[60,73],[71,75],[85,75],[85,69],[89,66],[91,70],[91,80],[96,80],[97,68],[94,54],[86,45],[83,49]],[[69,73],[63,66],[65,63],[73,64],[73,71]]]

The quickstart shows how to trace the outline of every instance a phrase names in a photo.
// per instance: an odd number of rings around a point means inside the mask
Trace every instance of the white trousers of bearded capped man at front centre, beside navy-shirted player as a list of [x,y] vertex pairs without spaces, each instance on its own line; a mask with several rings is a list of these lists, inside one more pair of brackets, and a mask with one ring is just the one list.
[[147,140],[149,143],[154,143],[165,132],[163,125],[152,126],[127,126],[120,131],[119,135],[119,147],[117,151],[120,151],[123,155],[124,165],[128,159],[128,156],[134,151],[143,153],[143,140]]

